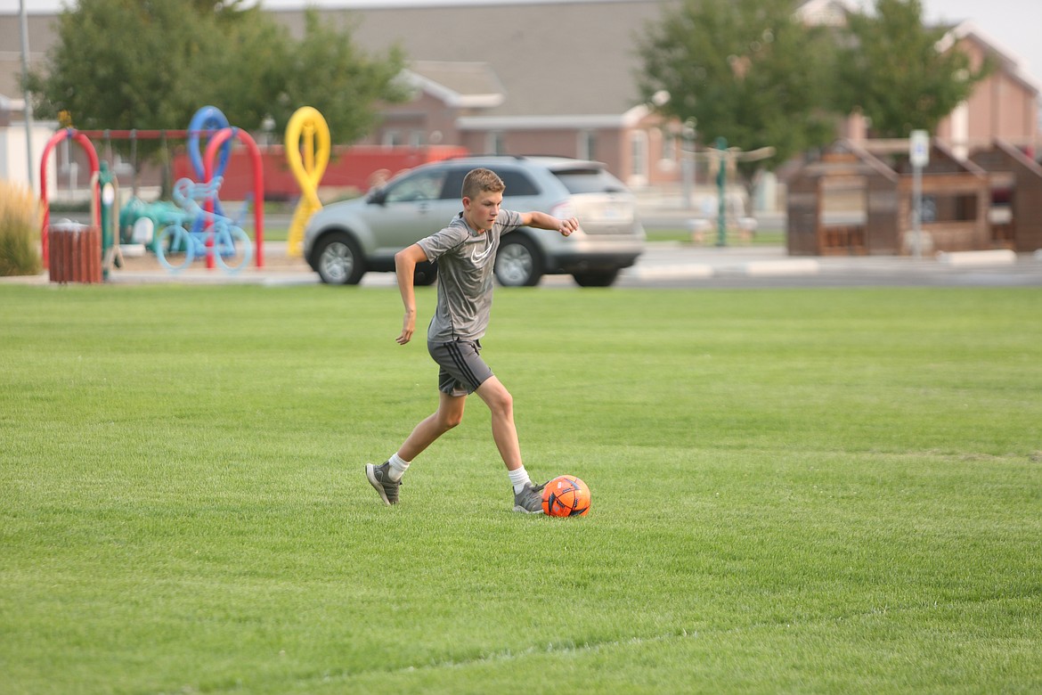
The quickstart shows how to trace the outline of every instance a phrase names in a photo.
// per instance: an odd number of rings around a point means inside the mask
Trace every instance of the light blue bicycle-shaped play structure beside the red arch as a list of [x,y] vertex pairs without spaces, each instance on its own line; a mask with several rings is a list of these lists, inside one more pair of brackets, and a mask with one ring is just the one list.
[[[231,218],[204,209],[199,202],[217,200],[223,179],[196,183],[190,178],[174,183],[174,202],[183,216],[164,227],[155,243],[155,256],[168,270],[183,270],[210,252],[219,266],[238,271],[253,257],[253,243]],[[185,226],[188,225],[188,227]]]

